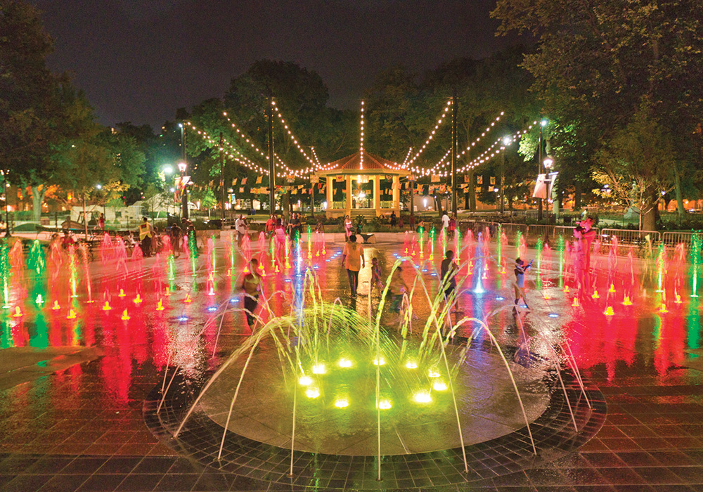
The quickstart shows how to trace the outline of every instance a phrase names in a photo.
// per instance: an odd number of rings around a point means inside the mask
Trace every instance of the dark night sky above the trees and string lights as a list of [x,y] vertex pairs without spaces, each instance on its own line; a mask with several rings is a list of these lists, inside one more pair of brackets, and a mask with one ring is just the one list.
[[155,127],[221,97],[255,60],[315,70],[330,105],[354,108],[380,71],[422,71],[506,46],[495,0],[34,0],[56,41],[49,66],[75,75],[103,124]]

